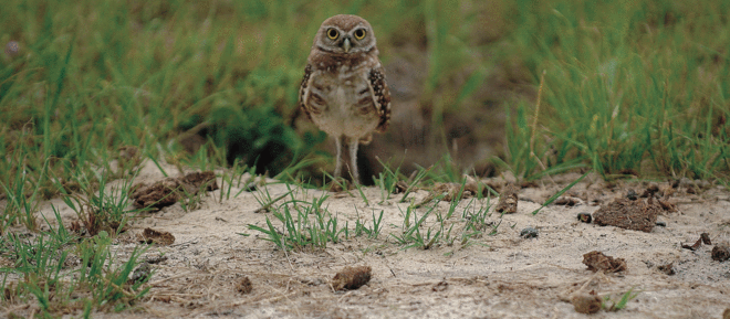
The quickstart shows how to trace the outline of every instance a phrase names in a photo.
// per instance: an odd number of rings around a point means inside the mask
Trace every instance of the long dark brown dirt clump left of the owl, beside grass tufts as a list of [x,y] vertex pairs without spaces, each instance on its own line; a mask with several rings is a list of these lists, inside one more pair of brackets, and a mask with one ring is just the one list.
[[186,196],[198,194],[201,190],[210,192],[217,189],[216,173],[192,172],[181,178],[166,178],[152,185],[138,183],[133,187],[134,191],[129,198],[138,208],[161,209]]

